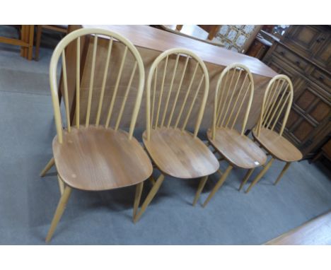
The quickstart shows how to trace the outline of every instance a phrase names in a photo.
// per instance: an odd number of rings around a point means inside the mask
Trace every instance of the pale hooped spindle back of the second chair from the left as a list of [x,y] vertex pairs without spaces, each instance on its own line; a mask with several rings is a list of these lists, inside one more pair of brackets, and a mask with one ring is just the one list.
[[[185,61],[180,61],[180,58],[184,58]],[[169,76],[167,76],[167,66]],[[158,72],[161,76],[158,76]],[[194,136],[197,136],[199,131],[209,91],[206,65],[197,54],[182,48],[168,49],[153,61],[146,82],[147,139],[150,139],[151,129],[158,127],[178,128],[181,124],[180,129],[186,128],[189,118],[193,115],[193,107],[199,100],[198,95],[203,82],[204,88],[201,91],[201,103],[197,110]],[[185,83],[188,83],[188,86]],[[151,88],[153,88],[152,98]],[[160,90],[156,91],[156,88]],[[195,88],[192,90],[192,100],[188,101],[192,88]],[[168,93],[166,93],[167,90]],[[182,99],[178,98],[180,95],[183,95]]]

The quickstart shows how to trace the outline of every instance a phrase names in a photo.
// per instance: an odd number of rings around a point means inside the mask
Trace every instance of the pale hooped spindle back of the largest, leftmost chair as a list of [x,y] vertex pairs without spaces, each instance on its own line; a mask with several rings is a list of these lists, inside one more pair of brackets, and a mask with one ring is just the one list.
[[110,100],[107,120],[105,122],[105,127],[108,128],[110,124],[110,118],[112,116],[112,111],[114,108],[114,102],[117,94],[117,90],[120,84],[121,76],[122,76],[122,70],[124,66],[124,61],[127,56],[127,51],[131,52],[132,56],[134,57],[134,65],[132,69],[132,74],[129,78],[129,82],[127,85],[127,90],[124,94],[124,99],[122,101],[122,106],[120,108],[119,115],[117,117],[117,121],[115,124],[115,130],[118,129],[120,120],[122,118],[122,112],[124,110],[125,102],[127,100],[127,95],[129,93],[129,90],[131,88],[131,84],[134,78],[135,71],[138,69],[139,73],[139,80],[138,80],[138,87],[137,87],[137,96],[134,103],[134,109],[132,112],[132,118],[130,122],[129,127],[129,139],[132,139],[133,132],[134,132],[134,126],[137,121],[137,116],[139,112],[139,107],[141,104],[141,97],[144,90],[144,64],[141,59],[141,56],[137,50],[136,47],[127,40],[127,38],[123,37],[122,35],[109,31],[104,29],[98,29],[98,28],[83,28],[79,30],[75,30],[74,32],[69,33],[64,37],[57,47],[54,49],[54,52],[52,54],[52,58],[50,61],[50,88],[51,88],[51,94],[52,94],[52,103],[54,107],[54,118],[55,118],[55,124],[57,127],[57,136],[59,143],[62,143],[62,117],[60,112],[60,105],[59,105],[59,98],[58,98],[58,86],[57,86],[57,64],[59,62],[59,58],[62,57],[62,83],[63,83],[63,92],[62,95],[64,96],[64,106],[66,110],[66,128],[70,132],[71,131],[71,122],[70,122],[70,112],[69,112],[69,98],[68,98],[68,79],[67,79],[67,71],[66,71],[66,47],[71,44],[71,42],[76,42],[76,128],[79,129],[79,123],[80,123],[80,91],[81,91],[81,37],[88,36],[93,37],[93,57],[92,57],[92,64],[91,64],[91,74],[90,75],[90,83],[89,83],[89,89],[88,89],[88,104],[86,109],[86,124],[85,126],[88,127],[91,122],[91,102],[92,102],[92,95],[93,95],[93,80],[95,78],[95,61],[96,61],[96,52],[98,48],[98,37],[104,37],[105,39],[109,39],[108,42],[108,52],[107,57],[105,59],[105,70],[103,71],[103,83],[101,87],[100,92],[100,100],[98,103],[98,114],[95,119],[95,126],[98,127],[100,123],[100,114],[103,107],[103,99],[104,99],[104,93],[105,93],[105,84],[108,79],[108,69],[110,66],[110,57],[112,52],[112,45],[113,41],[120,42],[122,45],[124,45],[124,53],[122,56],[122,61],[120,62],[120,69],[117,74],[117,79],[115,83],[114,92],[112,94],[112,98]]

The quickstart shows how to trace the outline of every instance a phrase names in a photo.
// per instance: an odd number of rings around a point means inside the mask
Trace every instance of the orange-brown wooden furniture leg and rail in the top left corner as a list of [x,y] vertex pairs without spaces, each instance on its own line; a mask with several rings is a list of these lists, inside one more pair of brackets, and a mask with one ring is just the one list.
[[33,37],[35,33],[35,25],[22,25],[21,39],[0,37],[0,42],[21,46],[21,57],[28,60],[33,59]]

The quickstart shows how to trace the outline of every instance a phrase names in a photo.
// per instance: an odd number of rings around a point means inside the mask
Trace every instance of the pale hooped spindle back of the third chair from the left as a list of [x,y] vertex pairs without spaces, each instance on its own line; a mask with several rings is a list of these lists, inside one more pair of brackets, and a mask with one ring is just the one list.
[[245,132],[253,95],[254,81],[247,66],[235,63],[223,69],[215,90],[213,139],[218,127],[233,129],[240,112],[245,113],[240,132]]

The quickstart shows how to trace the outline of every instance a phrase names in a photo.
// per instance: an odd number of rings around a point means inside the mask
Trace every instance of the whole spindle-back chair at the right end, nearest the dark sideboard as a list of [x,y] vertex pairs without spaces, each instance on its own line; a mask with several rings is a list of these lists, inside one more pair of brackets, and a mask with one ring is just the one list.
[[[289,77],[285,75],[274,76],[265,91],[257,127],[252,130],[254,139],[272,158],[252,181],[246,193],[265,175],[275,158],[284,161],[286,164],[274,184],[279,182],[291,162],[302,158],[302,154],[296,146],[282,136],[289,118],[292,100],[293,86]],[[274,129],[279,131],[274,131]]]

